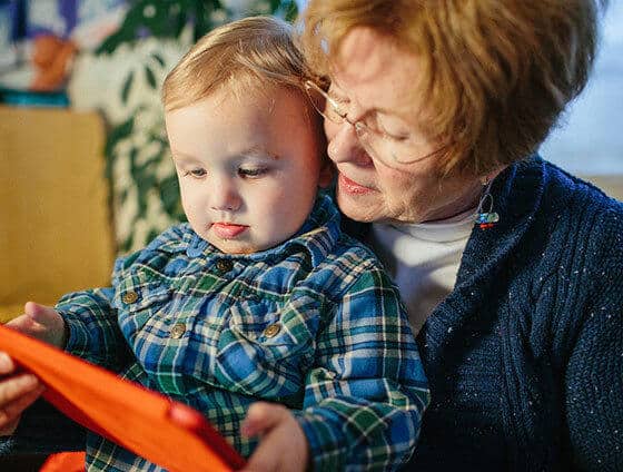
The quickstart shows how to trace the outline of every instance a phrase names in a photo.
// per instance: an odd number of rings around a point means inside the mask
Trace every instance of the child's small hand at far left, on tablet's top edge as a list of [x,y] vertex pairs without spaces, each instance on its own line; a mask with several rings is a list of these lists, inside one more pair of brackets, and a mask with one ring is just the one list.
[[23,315],[11,319],[7,326],[57,347],[65,347],[67,344],[65,321],[56,309],[28,302],[23,306]]

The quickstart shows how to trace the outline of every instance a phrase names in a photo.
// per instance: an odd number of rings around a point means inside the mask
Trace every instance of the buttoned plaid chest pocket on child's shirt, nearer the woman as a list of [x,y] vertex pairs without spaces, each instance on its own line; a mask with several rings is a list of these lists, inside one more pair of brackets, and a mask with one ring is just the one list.
[[[317,312],[297,316],[293,302],[234,304],[218,340],[216,376],[228,390],[263,399],[298,393],[313,360]],[[296,313],[295,313],[296,312]]]

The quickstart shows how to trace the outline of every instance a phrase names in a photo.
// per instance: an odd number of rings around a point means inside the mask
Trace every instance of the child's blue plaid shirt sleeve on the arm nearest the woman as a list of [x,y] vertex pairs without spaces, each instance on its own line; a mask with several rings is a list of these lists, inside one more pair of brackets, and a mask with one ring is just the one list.
[[397,289],[360,271],[317,338],[303,411],[314,470],[394,470],[412,455],[429,391]]

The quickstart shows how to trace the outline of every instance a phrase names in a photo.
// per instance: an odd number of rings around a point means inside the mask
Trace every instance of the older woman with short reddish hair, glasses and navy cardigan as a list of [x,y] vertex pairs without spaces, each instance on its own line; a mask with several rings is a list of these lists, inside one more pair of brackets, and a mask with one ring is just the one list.
[[409,470],[623,470],[623,206],[535,154],[586,82],[599,7],[305,12],[337,201],[372,223],[358,234],[400,288],[431,384]]

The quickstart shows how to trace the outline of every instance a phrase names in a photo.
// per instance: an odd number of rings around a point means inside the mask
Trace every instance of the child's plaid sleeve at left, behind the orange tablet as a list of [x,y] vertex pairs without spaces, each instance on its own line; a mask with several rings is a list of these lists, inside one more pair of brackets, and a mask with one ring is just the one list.
[[[115,281],[123,259],[115,264]],[[112,371],[119,371],[128,345],[117,322],[111,287],[65,295],[56,305],[69,330],[65,351]]]

